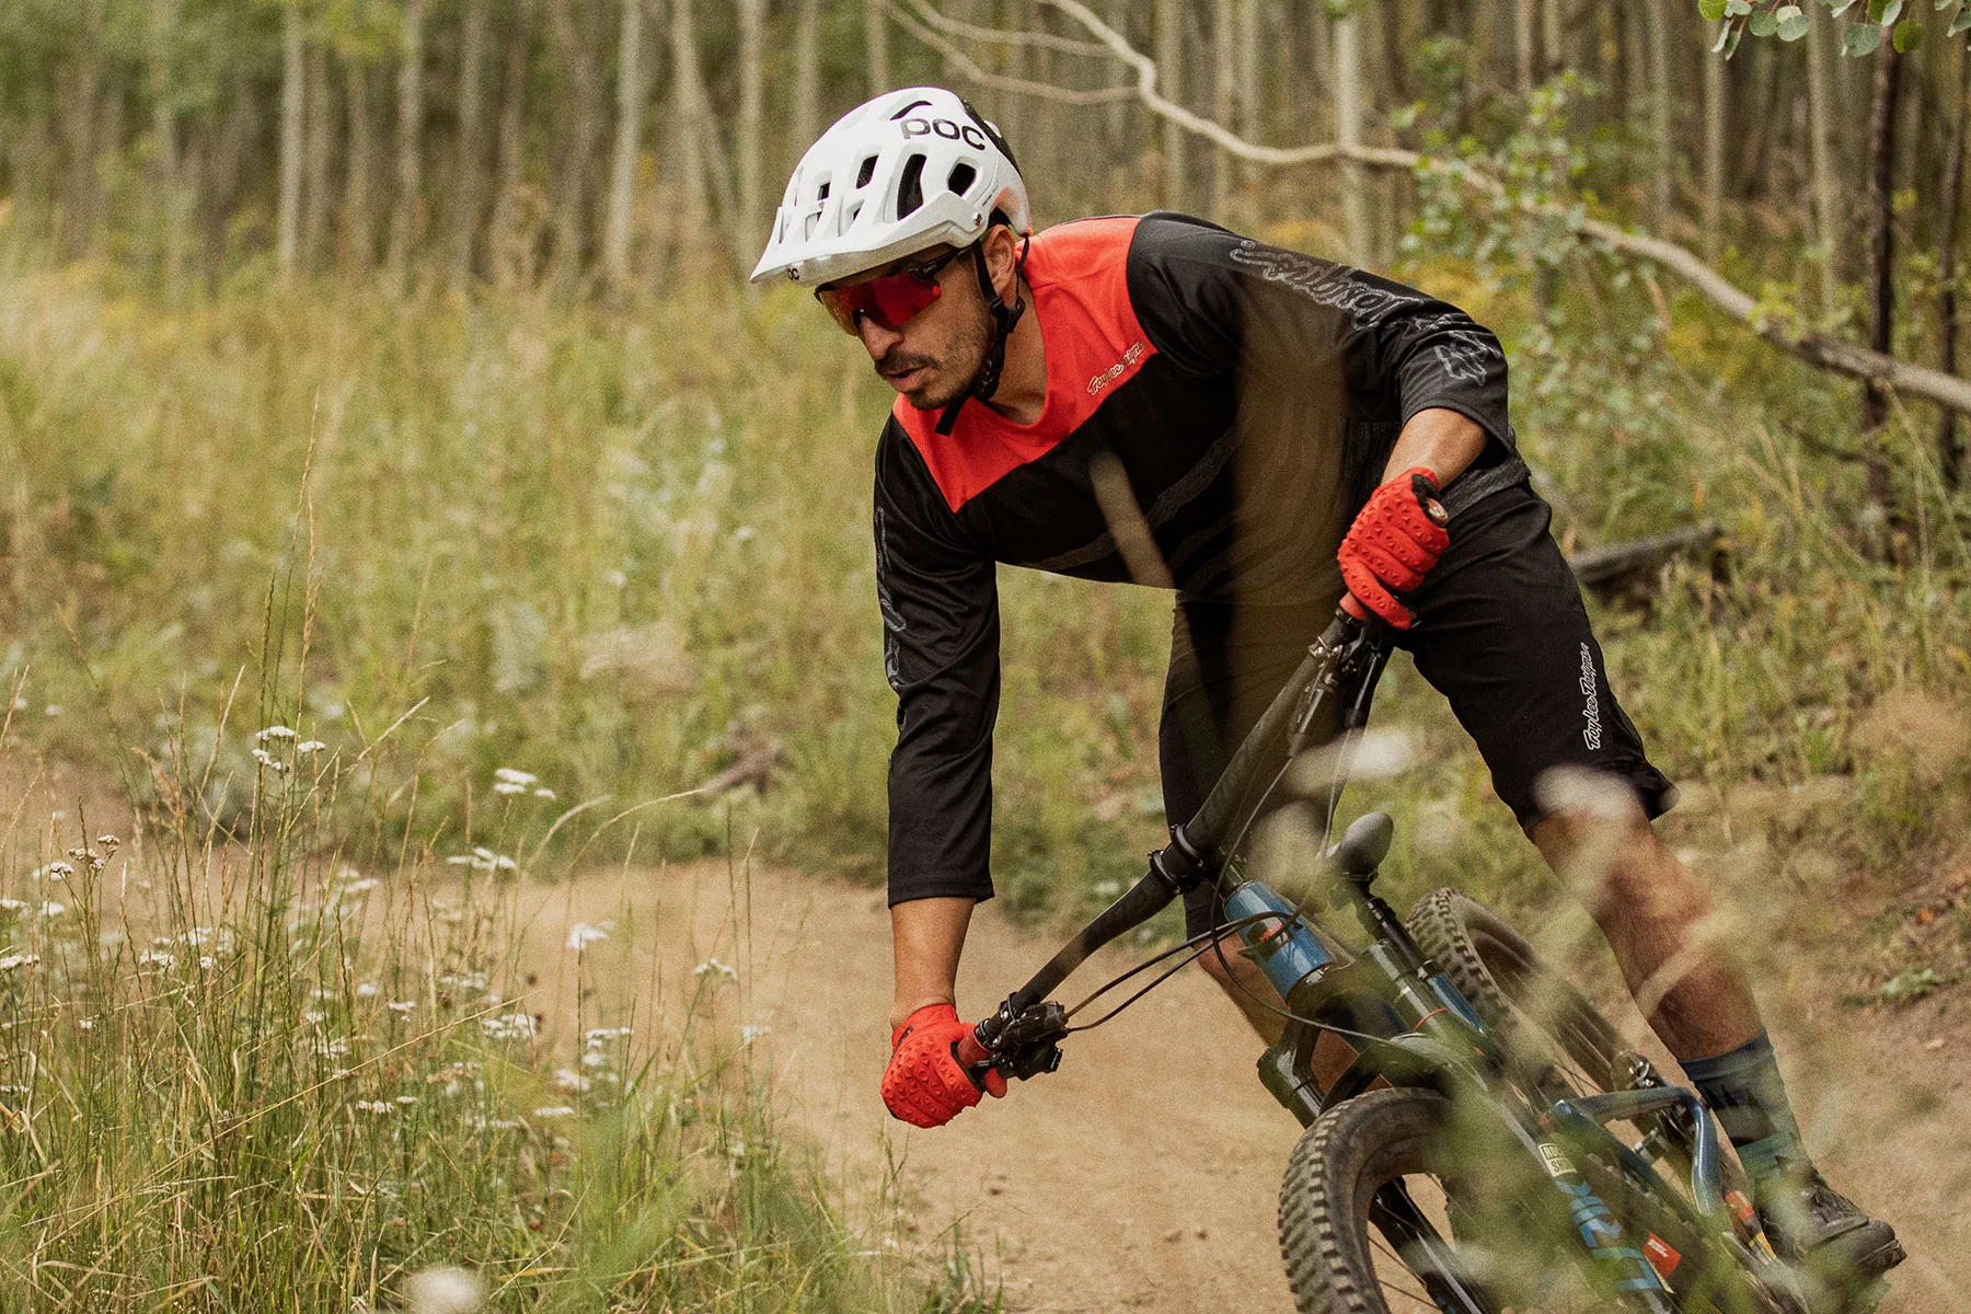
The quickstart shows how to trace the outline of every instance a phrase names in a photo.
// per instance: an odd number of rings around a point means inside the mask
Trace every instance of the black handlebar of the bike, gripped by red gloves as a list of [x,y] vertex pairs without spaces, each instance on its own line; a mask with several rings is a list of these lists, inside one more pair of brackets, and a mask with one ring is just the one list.
[[1317,713],[1330,695],[1340,693],[1346,678],[1354,678],[1356,688],[1350,705],[1342,709],[1342,731],[1362,727],[1368,719],[1368,693],[1390,648],[1382,624],[1372,623],[1366,613],[1358,615],[1360,605],[1350,603],[1352,597],[1342,597],[1334,619],[1240,743],[1204,804],[1189,821],[1171,827],[1169,845],[1149,855],[1149,871],[958,1042],[958,1060],[968,1070],[982,1076],[991,1064],[1005,1076],[1021,1078],[1053,1072],[1060,1062],[1054,1042],[1066,1034],[1066,1013],[1056,1003],[1041,1001],[1096,950],[1141,926],[1179,894],[1218,879],[1228,857],[1220,849],[1244,833],[1244,821],[1259,810],[1279,778],[1277,770],[1263,766],[1283,766],[1309,747]]

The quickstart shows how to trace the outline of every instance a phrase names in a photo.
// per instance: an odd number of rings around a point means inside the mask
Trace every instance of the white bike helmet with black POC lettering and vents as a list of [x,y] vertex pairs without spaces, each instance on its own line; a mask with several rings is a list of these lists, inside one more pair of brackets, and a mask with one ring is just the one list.
[[1031,230],[1027,185],[999,130],[942,87],[891,91],[800,158],[753,282],[786,274],[812,288],[938,242],[970,246],[993,211]]

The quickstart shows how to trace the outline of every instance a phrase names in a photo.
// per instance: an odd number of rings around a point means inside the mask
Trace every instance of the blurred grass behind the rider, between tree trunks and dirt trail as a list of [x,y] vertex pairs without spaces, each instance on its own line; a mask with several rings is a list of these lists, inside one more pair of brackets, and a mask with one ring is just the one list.
[[[1597,609],[1624,707],[1691,800],[1679,843],[1725,855],[1752,827],[1796,892],[1829,863],[1941,861],[1971,794],[1971,558],[1930,418],[1898,416],[1898,512],[1874,524],[1859,467],[1798,437],[1851,441],[1853,390],[1673,288],[1665,329],[1634,282],[1589,266],[1549,288],[1545,317],[1518,276],[1407,276],[1506,339],[1563,544],[1697,518],[1727,532],[1727,573],[1677,563],[1644,607]],[[102,745],[179,737],[238,774],[246,745],[217,735],[219,709],[260,660],[264,581],[292,542],[319,619],[306,697],[270,713],[359,749],[416,707],[430,823],[483,810],[497,766],[562,802],[621,802],[777,741],[763,798],[652,812],[643,851],[692,857],[757,827],[767,857],[879,873],[893,705],[867,485],[887,392],[804,297],[710,286],[601,307],[325,284],[170,309],[18,246],[0,288],[0,621],[18,636],[6,666],[26,670],[16,737],[45,760],[101,770]],[[1001,587],[995,873],[1023,914],[1070,914],[1161,833],[1167,601],[1027,571]],[[298,642],[298,615],[276,615],[278,640]],[[1441,701],[1399,672],[1380,719],[1415,731],[1419,766],[1350,808],[1390,806],[1417,837],[1397,885],[1543,902]],[[514,835],[556,808],[499,802]]]

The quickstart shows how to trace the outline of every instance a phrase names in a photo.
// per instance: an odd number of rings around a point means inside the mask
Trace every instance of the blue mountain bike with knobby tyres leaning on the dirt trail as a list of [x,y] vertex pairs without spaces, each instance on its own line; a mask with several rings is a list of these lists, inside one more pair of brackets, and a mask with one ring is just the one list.
[[[960,1062],[980,1080],[987,1066],[1009,1080],[1054,1072],[1070,1032],[1204,953],[1222,959],[1236,938],[1234,952],[1277,993],[1259,1003],[1285,1020],[1259,1080],[1305,1127],[1279,1202],[1303,1314],[1815,1314],[1825,1302],[1774,1255],[1693,1091],[1624,1048],[1595,1005],[1476,900],[1437,890],[1399,918],[1374,888],[1395,831],[1386,814],[1330,843],[1346,755],[1388,654],[1378,624],[1338,611],[1198,814],[978,1022]],[[1293,796],[1289,768],[1323,743],[1334,762],[1326,788]],[[1321,871],[1301,900],[1256,879],[1248,857],[1254,821],[1281,808],[1321,818]],[[1049,999],[1098,948],[1204,883],[1224,904],[1210,932],[1072,1011]],[[1315,902],[1358,934],[1317,918]],[[1074,1020],[1157,967],[1096,1020]]]

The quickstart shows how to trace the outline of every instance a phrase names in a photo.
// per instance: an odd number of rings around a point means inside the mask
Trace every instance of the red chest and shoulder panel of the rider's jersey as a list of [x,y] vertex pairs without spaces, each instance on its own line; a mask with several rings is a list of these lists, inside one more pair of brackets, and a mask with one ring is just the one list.
[[1082,219],[1033,238],[1027,286],[1047,349],[1047,402],[1033,424],[1013,424],[980,402],[938,433],[938,412],[897,398],[893,416],[911,435],[944,502],[956,512],[974,496],[1082,427],[1157,349],[1129,305],[1129,240],[1135,217]]

